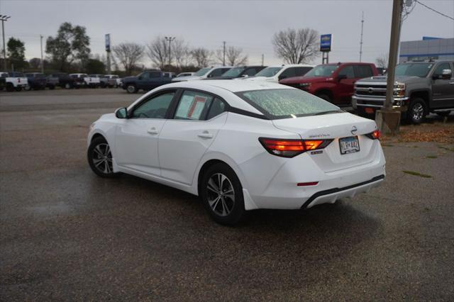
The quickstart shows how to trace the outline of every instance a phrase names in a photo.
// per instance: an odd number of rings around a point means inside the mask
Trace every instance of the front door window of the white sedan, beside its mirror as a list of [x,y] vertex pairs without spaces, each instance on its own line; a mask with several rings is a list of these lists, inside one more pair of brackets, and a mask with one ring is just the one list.
[[165,118],[175,92],[167,92],[152,97],[134,109],[133,118]]

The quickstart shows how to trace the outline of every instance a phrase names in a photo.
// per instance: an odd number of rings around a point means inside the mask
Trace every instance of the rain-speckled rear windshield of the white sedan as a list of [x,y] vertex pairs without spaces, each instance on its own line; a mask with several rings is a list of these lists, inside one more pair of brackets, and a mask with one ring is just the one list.
[[272,120],[343,112],[338,106],[299,89],[242,91],[237,95]]

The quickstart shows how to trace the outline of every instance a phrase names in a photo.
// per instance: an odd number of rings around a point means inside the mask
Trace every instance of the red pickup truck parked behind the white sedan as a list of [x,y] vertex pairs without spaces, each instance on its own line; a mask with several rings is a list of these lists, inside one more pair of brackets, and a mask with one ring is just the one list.
[[376,75],[374,64],[339,62],[318,65],[303,77],[290,77],[279,83],[307,91],[336,105],[350,106],[355,82]]

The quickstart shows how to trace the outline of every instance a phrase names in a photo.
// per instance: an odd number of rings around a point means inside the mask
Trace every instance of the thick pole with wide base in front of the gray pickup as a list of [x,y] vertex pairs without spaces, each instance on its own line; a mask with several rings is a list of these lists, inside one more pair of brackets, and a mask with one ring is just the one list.
[[399,130],[400,111],[392,110],[394,101],[394,73],[397,64],[397,50],[399,49],[400,39],[400,23],[402,14],[403,0],[393,0],[392,6],[392,23],[391,23],[391,38],[389,41],[389,58],[388,71],[386,82],[386,99],[383,108],[377,111],[375,121],[378,128],[382,132],[389,131],[392,134]]

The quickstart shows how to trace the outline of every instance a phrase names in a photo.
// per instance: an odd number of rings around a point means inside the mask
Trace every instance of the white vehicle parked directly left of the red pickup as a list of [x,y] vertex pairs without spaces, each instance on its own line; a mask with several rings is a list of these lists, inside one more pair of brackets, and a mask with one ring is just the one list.
[[304,76],[304,74],[309,72],[312,68],[314,68],[314,65],[288,64],[269,66],[260,70],[254,77],[248,77],[247,80],[253,82],[266,81],[277,83],[281,79]]

